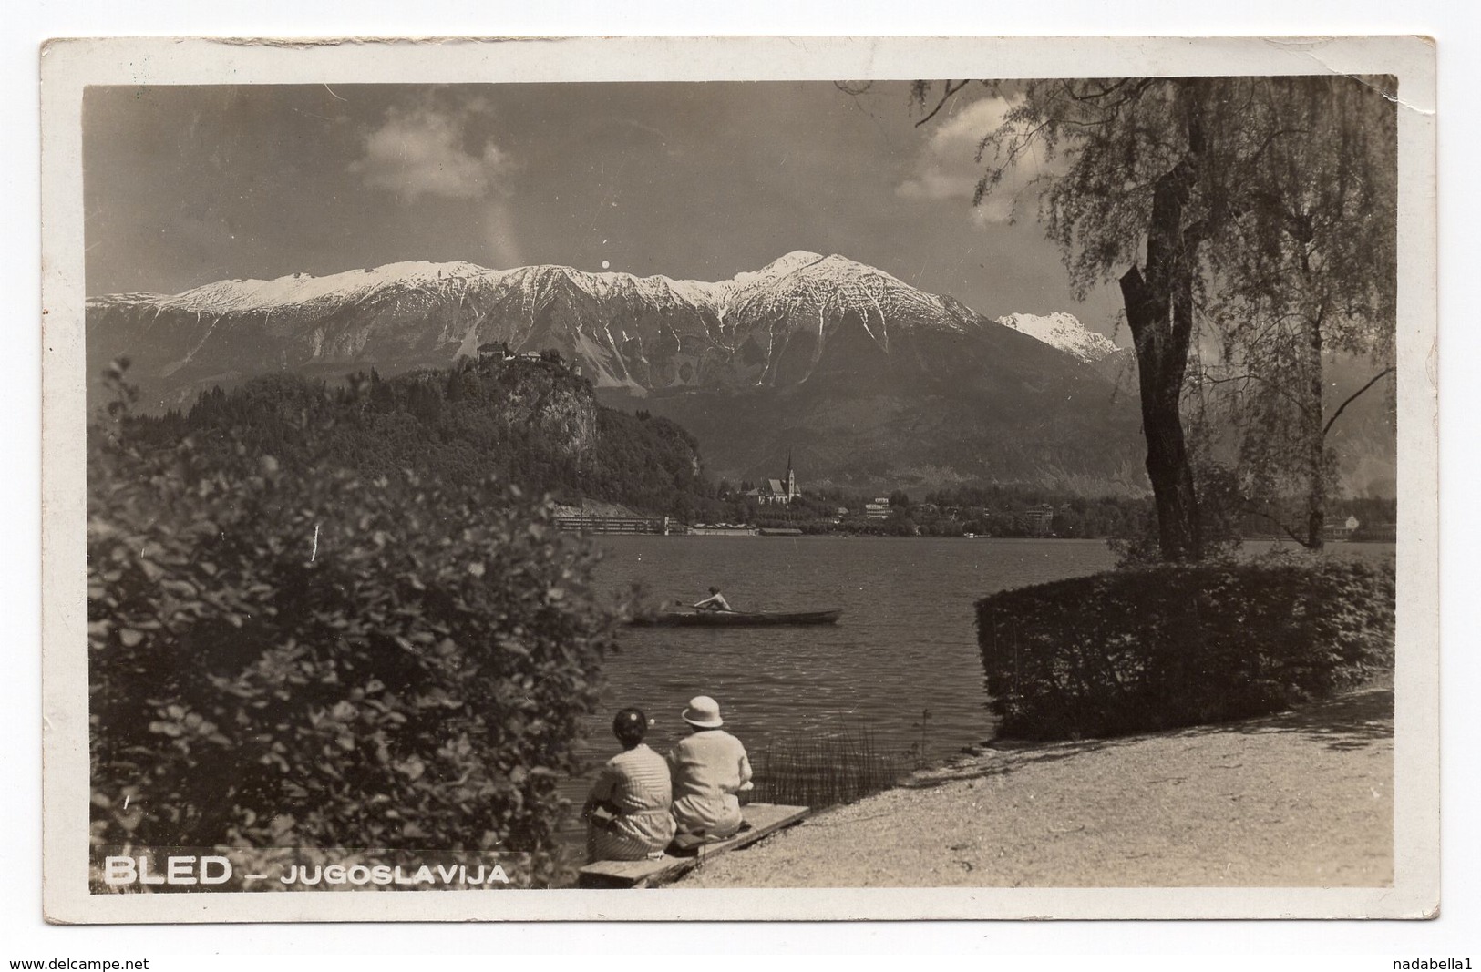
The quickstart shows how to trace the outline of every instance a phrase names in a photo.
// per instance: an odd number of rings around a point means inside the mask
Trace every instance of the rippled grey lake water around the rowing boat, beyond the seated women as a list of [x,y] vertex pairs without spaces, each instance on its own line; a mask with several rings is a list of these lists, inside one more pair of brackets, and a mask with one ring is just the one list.
[[[883,537],[598,537],[597,590],[640,583],[650,601],[692,604],[718,586],[736,610],[838,607],[838,624],[809,627],[634,627],[606,660],[606,688],[567,781],[576,806],[618,752],[612,716],[643,709],[649,744],[666,753],[686,732],[693,695],[720,701],[726,728],[751,753],[806,734],[857,735],[902,768],[939,760],[992,735],[973,604],[983,595],[1112,567],[1103,540]],[[1269,549],[1247,543],[1247,552]],[[1288,544],[1287,544],[1288,546]],[[1394,544],[1339,543],[1333,553],[1392,556]],[[923,719],[923,713],[929,718]],[[573,826],[575,821],[567,821]]]

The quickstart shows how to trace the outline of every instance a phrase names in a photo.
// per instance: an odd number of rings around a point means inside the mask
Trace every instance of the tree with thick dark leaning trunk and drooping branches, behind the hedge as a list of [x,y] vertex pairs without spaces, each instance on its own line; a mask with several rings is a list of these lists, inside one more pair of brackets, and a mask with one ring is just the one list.
[[[1278,212],[1299,183],[1331,176],[1331,132],[1361,127],[1349,101],[1382,93],[1348,77],[1208,77],[983,81],[1004,98],[1003,123],[985,133],[986,172],[973,203],[998,186],[1029,151],[1047,183],[1040,215],[1078,296],[1117,280],[1137,358],[1146,472],[1157,504],[1158,547],[1169,561],[1204,553],[1198,494],[1180,401],[1195,349],[1195,311],[1248,286],[1231,272],[1244,247],[1262,246],[1251,213]],[[969,81],[946,81],[929,123]],[[1355,89],[1361,89],[1357,90]],[[1283,95],[1300,92],[1309,124]],[[917,83],[920,104],[933,83]],[[1265,220],[1268,223],[1269,220]],[[1260,223],[1260,225],[1265,225]],[[1253,271],[1254,266],[1251,265]],[[1231,331],[1232,339],[1238,337]]]

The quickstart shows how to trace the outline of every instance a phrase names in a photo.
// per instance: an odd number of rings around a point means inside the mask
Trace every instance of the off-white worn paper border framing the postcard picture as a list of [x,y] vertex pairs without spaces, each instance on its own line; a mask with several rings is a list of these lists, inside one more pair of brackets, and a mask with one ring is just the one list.
[[[1056,65],[1059,71],[1046,71]],[[1072,65],[1065,71],[1063,65]],[[1435,49],[1334,38],[76,38],[41,71],[43,907],[59,923],[298,920],[1420,919],[1440,904]],[[915,888],[90,895],[81,95],[89,84],[1400,78],[1398,664],[1388,888]]]

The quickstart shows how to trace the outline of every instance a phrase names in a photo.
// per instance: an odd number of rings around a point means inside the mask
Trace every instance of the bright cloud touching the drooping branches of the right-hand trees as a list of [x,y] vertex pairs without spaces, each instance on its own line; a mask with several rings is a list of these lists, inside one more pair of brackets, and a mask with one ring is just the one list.
[[[994,132],[1012,104],[1003,98],[979,98],[945,120],[917,154],[908,176],[895,186],[895,194],[908,200],[972,201],[977,182],[992,164],[991,148],[977,161],[977,146]],[[1013,219],[1020,197],[1043,172],[1032,154],[1020,158],[982,203],[972,209],[977,226],[1006,223]]]

